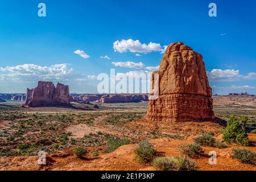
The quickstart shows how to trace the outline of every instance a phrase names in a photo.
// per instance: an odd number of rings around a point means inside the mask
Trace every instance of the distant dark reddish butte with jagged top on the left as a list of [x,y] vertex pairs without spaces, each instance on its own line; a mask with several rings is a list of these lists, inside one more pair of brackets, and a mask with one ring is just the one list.
[[69,88],[58,83],[56,88],[52,82],[39,81],[35,89],[27,89],[25,106],[69,106]]

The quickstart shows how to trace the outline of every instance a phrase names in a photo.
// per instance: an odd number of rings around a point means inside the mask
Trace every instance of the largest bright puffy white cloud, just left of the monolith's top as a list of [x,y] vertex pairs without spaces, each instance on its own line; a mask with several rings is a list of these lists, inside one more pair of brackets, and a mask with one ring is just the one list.
[[150,53],[150,52],[162,52],[164,49],[159,43],[148,43],[142,44],[139,40],[117,40],[113,43],[113,48],[115,52],[134,52],[134,53]]

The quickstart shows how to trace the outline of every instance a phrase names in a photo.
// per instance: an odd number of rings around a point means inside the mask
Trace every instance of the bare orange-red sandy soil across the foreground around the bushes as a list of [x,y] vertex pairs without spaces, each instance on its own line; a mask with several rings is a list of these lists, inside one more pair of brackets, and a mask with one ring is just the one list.
[[[153,139],[150,142],[154,144],[154,147],[158,150],[158,155],[161,156],[177,156],[180,155],[177,148],[180,144],[192,143],[194,137],[188,137],[184,140],[162,138]],[[246,147],[256,152],[255,141],[256,134],[249,134],[250,140],[254,141],[254,146]],[[216,137],[217,140],[221,140],[221,135]],[[48,166],[42,167],[38,165],[37,156],[22,156],[22,157],[5,157],[0,158],[1,170],[154,170],[150,164],[140,164],[134,160],[134,149],[137,144],[129,144],[121,146],[117,150],[109,154],[102,154],[96,158],[89,156],[89,159],[77,159],[73,156],[73,149],[64,150],[59,154],[53,154],[47,156]],[[232,148],[237,147],[232,145],[229,148],[218,149],[214,147],[203,147],[206,156],[201,156],[199,159],[192,159],[195,161],[200,170],[209,171],[226,171],[226,170],[238,170],[238,171],[256,171],[256,166],[250,164],[243,164],[238,160],[230,158]],[[217,152],[217,164],[210,165],[209,151]]]

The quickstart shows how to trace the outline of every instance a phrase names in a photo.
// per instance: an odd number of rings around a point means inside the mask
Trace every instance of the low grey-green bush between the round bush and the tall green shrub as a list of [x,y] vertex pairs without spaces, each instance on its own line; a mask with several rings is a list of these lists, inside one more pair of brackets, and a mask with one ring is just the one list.
[[200,146],[200,144],[197,143],[181,144],[179,151],[182,154],[189,156],[190,158],[198,158],[200,154],[204,153],[203,148]]

